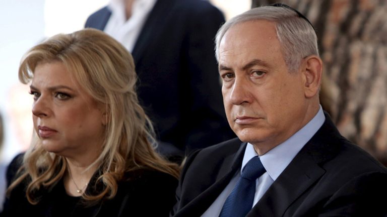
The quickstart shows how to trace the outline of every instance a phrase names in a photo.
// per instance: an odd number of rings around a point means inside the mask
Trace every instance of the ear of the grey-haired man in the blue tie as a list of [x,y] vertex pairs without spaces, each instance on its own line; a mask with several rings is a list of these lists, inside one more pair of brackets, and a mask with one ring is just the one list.
[[304,92],[306,98],[318,94],[321,85],[322,61],[316,55],[303,59],[302,73],[304,78]]

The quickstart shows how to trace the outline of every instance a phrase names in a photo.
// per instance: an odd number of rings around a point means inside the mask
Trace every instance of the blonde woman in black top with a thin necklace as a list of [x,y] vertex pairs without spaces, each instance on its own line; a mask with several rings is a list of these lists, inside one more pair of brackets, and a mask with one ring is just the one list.
[[23,57],[34,139],[7,172],[12,216],[168,216],[178,166],[154,150],[133,58],[99,30],[59,34]]

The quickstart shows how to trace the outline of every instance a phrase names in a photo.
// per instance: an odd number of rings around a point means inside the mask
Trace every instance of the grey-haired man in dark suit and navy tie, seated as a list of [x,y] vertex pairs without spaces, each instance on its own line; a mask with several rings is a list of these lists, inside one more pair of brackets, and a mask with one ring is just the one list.
[[218,31],[216,55],[238,138],[188,157],[171,215],[387,214],[386,168],[319,105],[322,62],[303,15],[281,4],[245,12]]

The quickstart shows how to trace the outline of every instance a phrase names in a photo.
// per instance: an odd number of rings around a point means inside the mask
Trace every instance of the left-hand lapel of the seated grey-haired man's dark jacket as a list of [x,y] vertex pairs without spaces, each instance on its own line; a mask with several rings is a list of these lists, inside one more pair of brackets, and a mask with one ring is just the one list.
[[216,176],[216,182],[185,205],[176,216],[202,215],[228,185],[234,174],[239,171],[245,149],[246,143],[242,143],[236,154],[227,156]]

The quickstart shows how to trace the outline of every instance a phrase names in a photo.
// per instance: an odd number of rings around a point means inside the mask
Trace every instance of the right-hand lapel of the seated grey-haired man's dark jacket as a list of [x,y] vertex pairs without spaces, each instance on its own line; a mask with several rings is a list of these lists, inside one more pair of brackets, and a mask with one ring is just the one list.
[[328,114],[326,121],[285,168],[247,216],[283,216],[288,207],[324,173],[319,164],[333,158],[341,137]]

